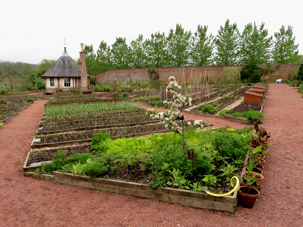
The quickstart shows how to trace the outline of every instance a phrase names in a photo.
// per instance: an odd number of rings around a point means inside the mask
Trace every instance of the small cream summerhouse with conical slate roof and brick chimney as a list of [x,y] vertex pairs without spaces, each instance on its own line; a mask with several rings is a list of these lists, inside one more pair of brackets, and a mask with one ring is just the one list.
[[62,56],[53,64],[42,77],[45,78],[46,94],[55,92],[79,91],[89,94],[88,74],[86,71],[85,52],[81,44],[80,62],[77,64],[67,53],[66,47]]

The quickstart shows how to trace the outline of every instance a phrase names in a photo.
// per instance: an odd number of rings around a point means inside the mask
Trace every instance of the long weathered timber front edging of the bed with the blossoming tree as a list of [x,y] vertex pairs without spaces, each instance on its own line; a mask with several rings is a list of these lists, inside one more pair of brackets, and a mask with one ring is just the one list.
[[102,178],[90,178],[81,175],[74,175],[74,177],[72,177],[70,173],[61,172],[54,172],[54,175],[24,172],[24,176],[88,189],[177,203],[197,208],[213,209],[225,212],[235,212],[237,208],[236,196],[214,197],[200,192],[171,188],[157,188],[150,190],[145,184]]

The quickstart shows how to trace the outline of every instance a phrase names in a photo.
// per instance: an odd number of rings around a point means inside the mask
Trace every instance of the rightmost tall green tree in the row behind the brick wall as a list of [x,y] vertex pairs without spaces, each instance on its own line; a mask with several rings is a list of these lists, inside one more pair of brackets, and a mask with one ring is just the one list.
[[274,63],[286,64],[299,62],[298,46],[295,44],[295,36],[292,37],[292,27],[288,25],[285,31],[284,25],[280,28],[280,32],[275,32],[276,38],[274,48],[272,50],[272,59]]

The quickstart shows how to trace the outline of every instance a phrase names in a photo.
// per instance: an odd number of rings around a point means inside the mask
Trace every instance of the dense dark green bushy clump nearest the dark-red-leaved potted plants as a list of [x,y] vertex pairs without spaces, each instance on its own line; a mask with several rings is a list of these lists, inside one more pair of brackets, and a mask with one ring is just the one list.
[[234,159],[246,155],[244,149],[247,144],[248,142],[244,137],[234,133],[217,133],[213,139],[213,145],[222,156]]

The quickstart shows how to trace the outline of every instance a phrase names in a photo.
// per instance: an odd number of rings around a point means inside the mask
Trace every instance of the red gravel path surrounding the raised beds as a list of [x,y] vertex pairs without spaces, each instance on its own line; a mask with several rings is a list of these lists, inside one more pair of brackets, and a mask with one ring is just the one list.
[[[296,89],[287,87],[269,85],[264,127],[271,132],[273,145],[266,158],[261,196],[254,209],[239,205],[237,215],[24,177],[23,162],[45,102],[35,101],[0,129],[0,225],[301,227],[303,99]],[[216,127],[245,126],[201,119]]]

